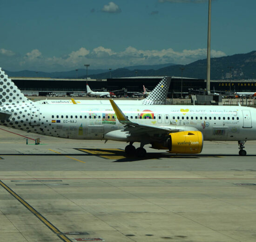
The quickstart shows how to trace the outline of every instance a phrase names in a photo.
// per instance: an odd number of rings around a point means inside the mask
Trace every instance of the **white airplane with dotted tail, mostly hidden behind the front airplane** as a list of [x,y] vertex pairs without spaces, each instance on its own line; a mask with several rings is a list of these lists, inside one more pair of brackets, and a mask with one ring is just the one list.
[[[166,76],[164,77],[153,89],[152,92],[148,94],[148,97],[142,100],[116,100],[115,102],[120,105],[120,104],[126,104],[126,105],[146,105],[146,104],[162,104],[164,101],[166,101],[170,82],[171,82],[171,77]],[[108,100],[75,100],[71,98],[71,100],[57,100],[57,99],[52,99],[52,100],[40,100],[40,101],[35,101],[35,103],[40,103],[40,104],[108,104]]]

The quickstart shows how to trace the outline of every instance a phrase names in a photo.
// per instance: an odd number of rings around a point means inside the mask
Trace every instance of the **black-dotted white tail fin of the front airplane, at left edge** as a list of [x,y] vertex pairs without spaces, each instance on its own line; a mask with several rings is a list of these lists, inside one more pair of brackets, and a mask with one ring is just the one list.
[[20,89],[0,67],[0,105],[15,105],[25,102],[30,104],[33,103],[20,92]]

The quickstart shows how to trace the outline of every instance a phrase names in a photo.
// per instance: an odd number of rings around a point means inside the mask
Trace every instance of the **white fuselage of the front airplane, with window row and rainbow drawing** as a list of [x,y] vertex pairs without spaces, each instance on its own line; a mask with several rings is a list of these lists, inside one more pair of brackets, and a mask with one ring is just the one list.
[[[204,140],[255,140],[256,109],[241,106],[120,105],[130,121],[139,124],[193,127]],[[1,110],[3,108],[1,107]],[[104,135],[123,129],[111,105],[9,105],[12,112],[1,125],[28,132],[70,139],[104,140]]]

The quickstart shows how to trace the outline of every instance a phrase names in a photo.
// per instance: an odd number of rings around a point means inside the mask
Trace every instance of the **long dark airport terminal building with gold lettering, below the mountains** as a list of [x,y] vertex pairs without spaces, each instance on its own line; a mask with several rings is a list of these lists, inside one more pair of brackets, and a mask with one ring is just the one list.
[[[13,82],[24,94],[46,96],[51,93],[70,95],[86,93],[86,79],[53,79],[53,78],[29,78],[11,77]],[[88,85],[92,90],[114,91],[117,95],[131,95],[142,92],[144,85],[147,89],[153,88],[162,79],[161,76],[149,77],[126,77],[111,79],[88,79]],[[231,88],[230,88],[231,86]],[[168,97],[180,97],[189,93],[189,89],[205,89],[206,80],[187,77],[173,77]],[[211,81],[211,90],[232,92],[254,92],[256,91],[256,80],[217,80]]]

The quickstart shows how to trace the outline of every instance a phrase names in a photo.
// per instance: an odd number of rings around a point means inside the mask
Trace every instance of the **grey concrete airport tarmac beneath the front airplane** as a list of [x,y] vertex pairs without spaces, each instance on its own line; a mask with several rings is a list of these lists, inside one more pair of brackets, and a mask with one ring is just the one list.
[[243,157],[237,142],[143,159],[125,146],[0,126],[0,242],[256,241],[256,141]]

